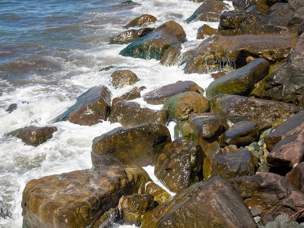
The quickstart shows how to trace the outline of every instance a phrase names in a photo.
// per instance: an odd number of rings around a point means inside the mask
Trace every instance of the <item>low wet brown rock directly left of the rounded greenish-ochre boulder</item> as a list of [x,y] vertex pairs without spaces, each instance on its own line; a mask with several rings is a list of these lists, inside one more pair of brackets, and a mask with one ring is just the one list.
[[135,102],[118,101],[112,106],[109,121],[119,122],[123,127],[135,127],[146,123],[166,125],[168,113],[166,110],[141,108]]

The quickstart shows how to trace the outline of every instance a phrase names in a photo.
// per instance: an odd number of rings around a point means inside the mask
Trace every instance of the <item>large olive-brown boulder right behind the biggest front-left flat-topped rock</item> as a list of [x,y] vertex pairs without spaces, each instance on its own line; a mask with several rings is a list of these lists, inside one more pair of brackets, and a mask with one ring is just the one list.
[[154,165],[169,142],[170,132],[164,125],[118,127],[93,139],[92,163],[96,168],[113,163]]

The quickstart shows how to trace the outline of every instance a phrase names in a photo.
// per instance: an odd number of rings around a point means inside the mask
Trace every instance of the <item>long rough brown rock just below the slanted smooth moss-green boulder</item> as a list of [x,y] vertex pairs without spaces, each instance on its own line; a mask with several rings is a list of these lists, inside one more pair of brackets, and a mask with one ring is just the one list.
[[300,111],[294,104],[238,95],[217,95],[209,101],[210,112],[217,116],[243,116],[258,123],[260,129],[277,127]]

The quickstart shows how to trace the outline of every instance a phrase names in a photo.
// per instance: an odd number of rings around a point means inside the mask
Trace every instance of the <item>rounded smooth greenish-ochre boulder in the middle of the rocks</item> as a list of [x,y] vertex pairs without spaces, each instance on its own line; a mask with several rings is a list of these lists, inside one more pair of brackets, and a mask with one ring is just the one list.
[[167,110],[172,120],[187,120],[192,114],[206,113],[210,105],[203,95],[189,91],[170,97],[162,110]]

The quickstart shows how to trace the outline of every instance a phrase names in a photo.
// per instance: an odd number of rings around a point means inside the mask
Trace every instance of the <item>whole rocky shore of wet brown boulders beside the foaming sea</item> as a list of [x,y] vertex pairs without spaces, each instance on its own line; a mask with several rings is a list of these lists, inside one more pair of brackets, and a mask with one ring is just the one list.
[[[122,127],[92,140],[92,169],[27,183],[23,228],[105,228],[118,219],[141,228],[304,226],[304,1],[233,0],[233,11],[221,0],[200,2],[186,22],[219,28],[199,28],[198,47],[187,46],[177,22],[153,28],[157,18],[145,12],[112,43],[129,44],[121,55],[214,72],[215,80],[206,89],[193,81],[149,93],[134,87],[119,98],[101,85],[77,98],[53,122]],[[139,80],[130,70],[111,77],[116,88]],[[141,97],[163,108],[142,108],[133,101]],[[56,130],[9,135],[38,146]],[[148,165],[176,195],[152,182]]]

